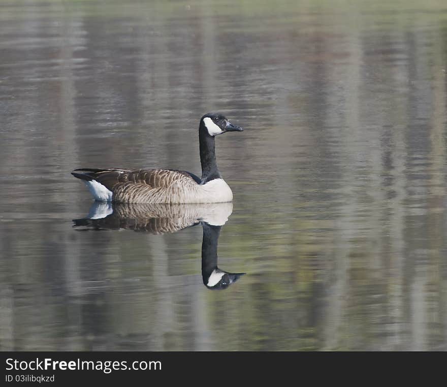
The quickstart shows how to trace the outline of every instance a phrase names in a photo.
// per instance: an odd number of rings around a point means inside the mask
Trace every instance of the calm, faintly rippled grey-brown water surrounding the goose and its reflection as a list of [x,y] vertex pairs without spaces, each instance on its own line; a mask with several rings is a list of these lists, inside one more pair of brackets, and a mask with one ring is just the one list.
[[[119,3],[0,0],[0,349],[446,350],[445,1]],[[186,210],[74,227],[214,110],[245,275]]]

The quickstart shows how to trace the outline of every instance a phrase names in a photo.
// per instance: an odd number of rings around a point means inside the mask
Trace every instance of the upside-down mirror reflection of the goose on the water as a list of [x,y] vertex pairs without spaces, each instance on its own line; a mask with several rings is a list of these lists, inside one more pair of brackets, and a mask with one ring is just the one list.
[[202,225],[202,279],[208,289],[226,289],[245,273],[229,273],[217,266],[220,229],[233,212],[233,203],[130,204],[94,202],[87,217],[74,219],[77,230],[134,230],[152,234]]

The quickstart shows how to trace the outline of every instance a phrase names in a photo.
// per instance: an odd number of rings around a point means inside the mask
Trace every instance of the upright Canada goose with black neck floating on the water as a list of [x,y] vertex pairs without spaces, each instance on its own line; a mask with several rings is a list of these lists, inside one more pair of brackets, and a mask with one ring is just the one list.
[[[97,201],[120,203],[219,203],[233,193],[217,169],[214,137],[242,131],[220,113],[200,120],[199,143],[202,178],[173,169],[75,169],[72,174],[87,185]],[[81,173],[78,173],[81,172]]]

